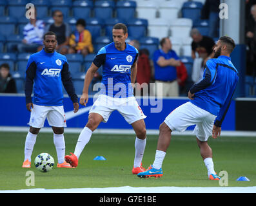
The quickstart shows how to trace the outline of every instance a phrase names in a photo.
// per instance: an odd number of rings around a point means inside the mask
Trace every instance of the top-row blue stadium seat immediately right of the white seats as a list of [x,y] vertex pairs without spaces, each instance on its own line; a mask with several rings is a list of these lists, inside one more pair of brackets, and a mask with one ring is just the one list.
[[201,18],[202,3],[187,1],[182,5],[182,17],[196,21]]

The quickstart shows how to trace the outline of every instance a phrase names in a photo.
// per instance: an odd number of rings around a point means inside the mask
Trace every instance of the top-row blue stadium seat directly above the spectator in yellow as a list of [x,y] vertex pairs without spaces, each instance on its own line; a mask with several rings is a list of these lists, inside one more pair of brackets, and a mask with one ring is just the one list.
[[77,19],[87,19],[91,17],[94,3],[89,0],[79,0],[73,3],[73,16]]

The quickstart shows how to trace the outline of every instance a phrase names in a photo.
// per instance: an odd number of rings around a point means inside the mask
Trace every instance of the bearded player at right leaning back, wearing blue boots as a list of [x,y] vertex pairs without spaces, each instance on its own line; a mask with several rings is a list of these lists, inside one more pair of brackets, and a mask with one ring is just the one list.
[[206,62],[204,78],[188,92],[190,101],[174,109],[161,124],[153,165],[137,176],[162,176],[162,161],[170,144],[172,131],[185,131],[188,126],[196,125],[193,133],[197,136],[208,178],[221,179],[214,171],[212,149],[207,141],[211,134],[213,138],[221,135],[221,124],[239,80],[238,72],[230,59],[234,48],[235,42],[230,37],[224,36],[217,41],[213,50],[214,59]]

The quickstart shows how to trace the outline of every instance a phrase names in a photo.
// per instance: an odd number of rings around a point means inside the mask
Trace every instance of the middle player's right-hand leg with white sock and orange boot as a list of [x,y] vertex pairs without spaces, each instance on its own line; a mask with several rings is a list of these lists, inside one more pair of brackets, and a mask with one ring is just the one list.
[[132,174],[138,174],[144,172],[145,169],[142,165],[143,154],[146,147],[146,126],[144,120],[137,120],[132,123],[132,127],[135,131],[135,157],[133,162]]

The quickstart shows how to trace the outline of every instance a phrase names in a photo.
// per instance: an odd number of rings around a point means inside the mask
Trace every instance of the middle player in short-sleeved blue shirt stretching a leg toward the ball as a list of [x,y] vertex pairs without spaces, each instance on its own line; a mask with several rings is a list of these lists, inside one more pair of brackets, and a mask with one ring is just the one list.
[[92,132],[101,122],[107,122],[111,113],[117,110],[123,115],[126,122],[132,125],[137,136],[135,138],[135,158],[132,169],[132,173],[137,174],[144,171],[141,161],[146,145],[146,127],[144,124],[146,116],[133,96],[132,86],[137,73],[138,51],[125,42],[128,37],[126,25],[115,24],[112,33],[113,42],[99,50],[86,73],[80,104],[86,106],[90,82],[95,72],[103,65],[101,91],[90,109],[88,122],[79,135],[74,154],[66,155],[65,160],[72,166],[77,167],[78,158],[84,146],[89,142]]

